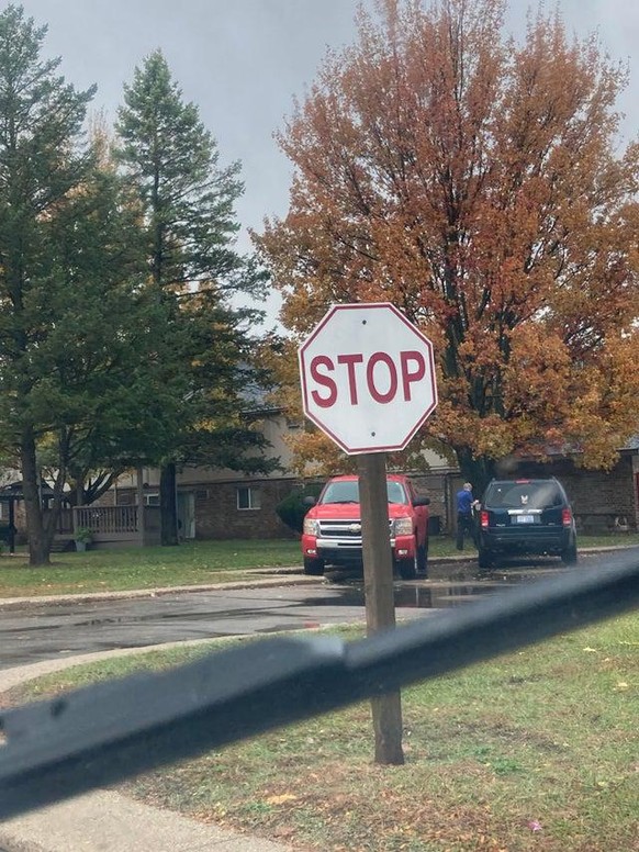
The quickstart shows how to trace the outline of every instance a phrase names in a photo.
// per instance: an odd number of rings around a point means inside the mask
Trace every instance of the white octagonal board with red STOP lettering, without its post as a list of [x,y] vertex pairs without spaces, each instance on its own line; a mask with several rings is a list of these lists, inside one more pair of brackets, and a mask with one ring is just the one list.
[[304,414],[348,453],[404,449],[437,405],[433,344],[388,302],[334,305],[299,357]]

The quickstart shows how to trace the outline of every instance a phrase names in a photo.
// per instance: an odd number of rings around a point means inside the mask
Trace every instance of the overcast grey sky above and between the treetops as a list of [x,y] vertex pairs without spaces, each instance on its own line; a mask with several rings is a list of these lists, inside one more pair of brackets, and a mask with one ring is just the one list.
[[[0,0],[0,8],[5,5]],[[23,0],[21,5],[48,25],[45,52],[61,57],[65,77],[79,88],[98,85],[93,105],[109,121],[122,101],[123,82],[161,48],[184,99],[198,104],[217,139],[221,164],[240,160],[246,190],[238,218],[259,229],[266,215],[287,211],[290,168],[272,134],[290,114],[293,96],[302,97],[313,81],[326,47],[352,41],[358,1]],[[523,31],[530,5],[536,9],[536,0],[509,0],[511,32]],[[630,63],[630,87],[619,105],[627,114],[626,134],[636,136],[639,3],[560,0],[559,7],[570,30],[582,36],[597,31],[612,57]]]

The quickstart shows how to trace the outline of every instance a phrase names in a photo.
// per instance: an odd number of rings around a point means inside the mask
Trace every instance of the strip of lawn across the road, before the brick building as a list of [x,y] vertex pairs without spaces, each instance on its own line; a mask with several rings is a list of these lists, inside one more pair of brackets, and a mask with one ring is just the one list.
[[[639,545],[639,535],[580,539],[582,548],[630,545]],[[475,550],[467,545],[464,552]],[[451,538],[437,536],[430,541],[430,556],[459,553]],[[22,549],[0,557],[0,598],[216,584],[245,579],[251,569],[299,565],[301,570],[301,563],[295,539],[189,541],[171,548],[53,553],[46,568],[29,568]]]

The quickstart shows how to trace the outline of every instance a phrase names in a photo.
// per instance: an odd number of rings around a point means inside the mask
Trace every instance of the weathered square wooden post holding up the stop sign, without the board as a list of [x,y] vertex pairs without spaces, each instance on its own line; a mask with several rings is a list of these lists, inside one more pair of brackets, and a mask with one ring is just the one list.
[[[358,471],[366,624],[370,636],[395,626],[385,455],[367,452],[358,456]],[[403,764],[401,693],[371,698],[371,710],[375,763]]]

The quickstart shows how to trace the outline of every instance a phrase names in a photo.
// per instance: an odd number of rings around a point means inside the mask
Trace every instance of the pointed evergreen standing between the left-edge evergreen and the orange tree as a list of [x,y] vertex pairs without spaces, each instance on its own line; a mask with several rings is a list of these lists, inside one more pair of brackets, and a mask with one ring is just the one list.
[[232,306],[231,296],[258,293],[265,276],[235,250],[239,165],[220,167],[215,141],[159,51],[125,86],[116,134],[116,159],[139,194],[149,288],[169,315],[158,347],[167,375],[184,382],[175,444],[160,468],[161,540],[173,545],[178,463],[264,463],[243,458],[264,441],[242,419],[239,394],[258,312]]

